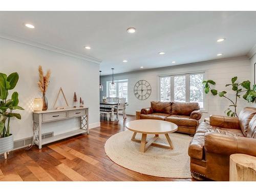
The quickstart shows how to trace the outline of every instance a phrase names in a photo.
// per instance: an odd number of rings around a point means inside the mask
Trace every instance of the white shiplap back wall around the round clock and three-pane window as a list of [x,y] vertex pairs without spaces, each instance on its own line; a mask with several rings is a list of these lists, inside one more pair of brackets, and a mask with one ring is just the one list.
[[[128,65],[128,64],[125,64]],[[127,106],[127,114],[135,115],[136,110],[150,106],[150,101],[158,100],[158,75],[165,74],[182,74],[188,72],[202,72],[205,71],[205,78],[216,81],[216,89],[218,91],[231,90],[226,88],[225,84],[230,83],[233,76],[238,76],[238,80],[250,80],[250,60],[247,57],[222,59],[216,61],[207,61],[200,63],[193,63],[189,65],[174,66],[163,69],[154,70],[138,70],[138,72],[116,74],[114,80],[128,79],[129,80],[129,106]],[[147,80],[152,87],[152,94],[146,100],[138,100],[133,93],[134,85],[138,80]],[[104,90],[100,92],[100,99],[106,96],[106,81],[112,80],[111,76],[102,76],[101,82]],[[231,90],[231,92],[233,92]],[[229,95],[232,97],[233,95]],[[224,111],[229,107],[229,103],[225,98],[219,96],[207,95],[207,112],[204,117],[210,114],[225,115]],[[246,100],[239,99],[238,111],[245,106],[250,106]]]

